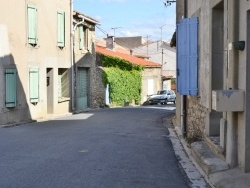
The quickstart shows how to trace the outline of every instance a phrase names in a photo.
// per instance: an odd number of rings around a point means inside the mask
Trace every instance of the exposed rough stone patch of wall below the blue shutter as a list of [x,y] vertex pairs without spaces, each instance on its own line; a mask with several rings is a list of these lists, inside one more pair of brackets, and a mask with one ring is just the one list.
[[199,104],[197,97],[189,96],[187,100],[187,137],[193,141],[202,140],[208,109]]

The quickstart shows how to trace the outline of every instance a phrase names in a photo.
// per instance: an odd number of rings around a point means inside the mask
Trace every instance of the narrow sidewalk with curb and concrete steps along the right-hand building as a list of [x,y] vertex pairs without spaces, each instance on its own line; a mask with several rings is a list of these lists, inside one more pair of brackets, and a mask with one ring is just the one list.
[[[250,173],[243,173],[238,168],[230,169],[225,160],[217,157],[205,142],[194,142],[191,144],[191,147],[188,147],[187,142],[182,138],[180,126],[176,125],[174,119],[172,119],[172,122],[174,128],[169,129],[170,134],[175,134],[175,136],[179,139],[182,147],[188,155],[188,158],[194,164],[198,172],[201,174],[202,178],[204,178],[211,187],[250,187]],[[188,175],[189,172],[186,171],[186,173]],[[197,186],[193,183],[192,187]]]

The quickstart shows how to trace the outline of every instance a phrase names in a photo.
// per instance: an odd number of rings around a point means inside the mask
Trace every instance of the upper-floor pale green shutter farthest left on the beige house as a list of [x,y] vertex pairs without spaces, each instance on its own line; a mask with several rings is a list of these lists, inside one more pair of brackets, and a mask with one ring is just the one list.
[[37,44],[37,9],[28,5],[28,43]]

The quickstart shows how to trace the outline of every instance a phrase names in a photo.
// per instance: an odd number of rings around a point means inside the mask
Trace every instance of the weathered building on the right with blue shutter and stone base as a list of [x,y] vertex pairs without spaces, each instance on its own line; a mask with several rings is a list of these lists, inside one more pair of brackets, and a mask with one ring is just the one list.
[[[218,138],[215,153],[231,168],[249,172],[250,2],[177,0],[178,4],[186,17],[177,20],[177,90],[184,98],[177,116],[183,117],[183,133],[202,140]],[[186,51],[183,41],[189,45]]]

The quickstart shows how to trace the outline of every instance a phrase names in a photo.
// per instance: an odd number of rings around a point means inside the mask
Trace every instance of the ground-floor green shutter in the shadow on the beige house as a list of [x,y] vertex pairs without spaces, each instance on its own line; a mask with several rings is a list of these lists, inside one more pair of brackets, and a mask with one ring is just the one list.
[[17,70],[5,70],[5,105],[16,107],[17,103]]

